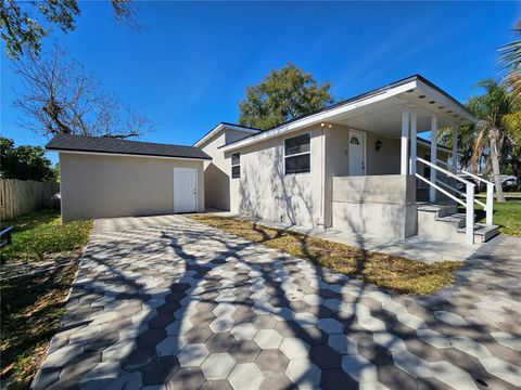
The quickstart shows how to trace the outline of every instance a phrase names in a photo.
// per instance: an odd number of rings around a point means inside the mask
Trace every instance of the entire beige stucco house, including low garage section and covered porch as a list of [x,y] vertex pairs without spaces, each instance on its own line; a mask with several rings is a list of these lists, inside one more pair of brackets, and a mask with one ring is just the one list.
[[[60,152],[64,220],[206,207],[315,229],[472,244],[497,234],[493,184],[476,177],[487,186],[486,200],[478,200],[474,184],[456,174],[458,126],[475,121],[416,75],[264,131],[221,122],[193,146],[56,135],[48,150]],[[436,143],[445,128],[452,148]],[[431,142],[417,138],[423,132]],[[474,204],[486,210],[486,224],[474,224]]]

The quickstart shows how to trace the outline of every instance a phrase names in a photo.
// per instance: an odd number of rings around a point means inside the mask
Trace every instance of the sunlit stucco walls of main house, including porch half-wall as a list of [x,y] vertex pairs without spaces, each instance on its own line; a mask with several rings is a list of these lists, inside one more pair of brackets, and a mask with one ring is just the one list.
[[[312,133],[312,171],[284,176],[283,141],[305,132]],[[368,233],[394,237],[416,234],[415,179],[399,176],[399,140],[366,132],[367,177],[360,180],[365,181],[366,190],[372,188],[371,196],[378,195],[380,200],[333,202],[333,178],[350,174],[348,134],[350,129],[339,125],[323,132],[321,128],[308,128],[240,150],[241,178],[230,179],[230,210],[303,226],[323,224],[326,227],[358,232],[367,229]],[[378,140],[382,142],[382,147],[376,151]],[[418,145],[418,150],[421,153],[428,151],[422,145]],[[439,152],[439,158],[446,157],[446,152]],[[225,169],[229,171],[229,153],[225,159]],[[394,198],[387,198],[386,190],[396,185],[404,191],[394,194]],[[396,197],[403,202],[398,203]],[[355,223],[351,226],[353,221]]]

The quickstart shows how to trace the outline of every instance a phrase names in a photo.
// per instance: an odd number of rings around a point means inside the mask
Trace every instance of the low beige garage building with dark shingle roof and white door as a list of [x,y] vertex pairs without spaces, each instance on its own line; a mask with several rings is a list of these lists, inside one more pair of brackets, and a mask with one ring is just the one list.
[[58,134],[62,220],[204,211],[198,147]]

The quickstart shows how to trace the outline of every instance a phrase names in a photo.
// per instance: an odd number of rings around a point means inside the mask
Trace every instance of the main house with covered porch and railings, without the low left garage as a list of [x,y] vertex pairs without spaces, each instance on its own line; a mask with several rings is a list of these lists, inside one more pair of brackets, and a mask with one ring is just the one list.
[[[473,183],[454,191],[457,129],[475,121],[416,75],[265,131],[219,123],[194,146],[212,156],[205,182],[223,183],[206,206],[301,226],[473,243],[497,234],[492,183],[486,204],[470,194]],[[436,144],[444,128],[453,131],[450,150]],[[423,132],[431,142],[417,139]],[[488,225],[474,226],[474,203],[487,209]]]

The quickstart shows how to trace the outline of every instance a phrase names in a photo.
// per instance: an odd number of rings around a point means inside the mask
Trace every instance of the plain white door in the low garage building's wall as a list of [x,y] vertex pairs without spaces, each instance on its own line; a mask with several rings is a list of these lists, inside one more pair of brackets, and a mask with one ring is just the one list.
[[174,168],[174,212],[198,211],[198,170]]

